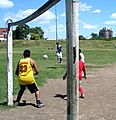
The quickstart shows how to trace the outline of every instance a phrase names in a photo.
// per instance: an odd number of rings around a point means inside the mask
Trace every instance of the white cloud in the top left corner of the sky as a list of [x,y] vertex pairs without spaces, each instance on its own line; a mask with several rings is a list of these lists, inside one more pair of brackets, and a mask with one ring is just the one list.
[[0,0],[0,8],[11,8],[14,3],[11,0]]

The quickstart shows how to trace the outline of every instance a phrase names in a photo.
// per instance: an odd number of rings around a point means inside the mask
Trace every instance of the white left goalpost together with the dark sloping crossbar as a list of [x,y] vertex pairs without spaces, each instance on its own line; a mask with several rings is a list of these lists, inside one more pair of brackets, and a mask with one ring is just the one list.
[[29,15],[28,17],[13,22],[11,19],[7,20],[8,32],[7,32],[7,103],[9,106],[13,105],[13,67],[12,67],[12,27],[16,25],[20,25],[23,23],[27,23],[37,18],[52,6],[57,4],[60,0],[48,0],[42,7],[40,7],[37,11]]

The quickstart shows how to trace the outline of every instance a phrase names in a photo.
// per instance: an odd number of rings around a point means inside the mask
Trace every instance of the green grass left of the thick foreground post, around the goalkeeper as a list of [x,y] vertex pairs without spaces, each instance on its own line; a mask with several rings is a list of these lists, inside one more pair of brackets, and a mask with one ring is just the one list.
[[[62,42],[63,43],[63,42]],[[6,82],[6,43],[0,44],[0,102],[7,99],[7,82]],[[65,43],[63,44],[63,47]],[[19,85],[17,76],[14,74],[18,61],[23,57],[25,49],[31,50],[31,58],[37,62],[39,75],[35,76],[39,86],[43,86],[49,79],[62,77],[66,71],[65,49],[63,51],[64,63],[58,64],[55,52],[55,41],[14,41],[13,42],[13,94],[17,94]],[[64,47],[65,48],[65,47]],[[43,59],[47,54],[48,59]]]

